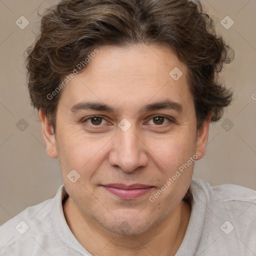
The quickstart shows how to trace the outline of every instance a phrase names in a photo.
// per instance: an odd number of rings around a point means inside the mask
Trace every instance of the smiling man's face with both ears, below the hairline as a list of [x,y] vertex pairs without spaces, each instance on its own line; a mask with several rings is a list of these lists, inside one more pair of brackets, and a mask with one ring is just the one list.
[[40,119],[70,199],[115,233],[145,232],[173,212],[208,134],[208,122],[196,130],[185,64],[160,45],[98,48],[61,91],[56,136]]

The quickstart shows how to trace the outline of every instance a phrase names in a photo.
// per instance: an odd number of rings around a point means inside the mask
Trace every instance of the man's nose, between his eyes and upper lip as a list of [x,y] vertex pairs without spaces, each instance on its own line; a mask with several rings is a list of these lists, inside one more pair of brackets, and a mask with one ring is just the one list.
[[118,127],[112,139],[109,163],[125,172],[132,172],[147,165],[146,150],[148,148],[142,141],[141,133],[136,132],[135,124],[126,131]]

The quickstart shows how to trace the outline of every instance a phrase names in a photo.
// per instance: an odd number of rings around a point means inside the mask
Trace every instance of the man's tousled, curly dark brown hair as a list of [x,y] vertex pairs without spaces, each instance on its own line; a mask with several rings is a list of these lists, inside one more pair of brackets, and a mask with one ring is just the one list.
[[[221,118],[233,92],[219,81],[223,63],[234,51],[217,36],[213,20],[199,0],[62,0],[47,9],[40,32],[27,49],[26,68],[31,104],[56,127],[54,91],[61,79],[102,45],[167,45],[188,68],[196,124]],[[80,70],[84,70],[87,65]]]

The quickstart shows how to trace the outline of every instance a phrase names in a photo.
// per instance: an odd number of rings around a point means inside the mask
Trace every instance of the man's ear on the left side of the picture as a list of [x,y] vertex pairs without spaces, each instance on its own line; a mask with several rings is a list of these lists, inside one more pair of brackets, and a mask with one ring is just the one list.
[[57,148],[55,134],[53,133],[52,125],[49,123],[46,114],[39,109],[39,118],[42,124],[42,135],[46,143],[46,153],[51,158],[57,158]]

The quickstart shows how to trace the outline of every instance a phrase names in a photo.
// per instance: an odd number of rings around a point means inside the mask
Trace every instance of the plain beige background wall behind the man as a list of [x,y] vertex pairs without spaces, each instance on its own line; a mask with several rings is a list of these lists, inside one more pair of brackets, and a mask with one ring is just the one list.
[[[27,206],[54,196],[62,184],[58,161],[45,153],[41,125],[25,86],[23,64],[23,52],[34,40],[32,31],[38,29],[37,10],[42,13],[54,2],[0,0],[0,224]],[[227,87],[235,89],[236,99],[222,119],[210,126],[207,152],[196,162],[194,177],[211,185],[234,183],[256,190],[256,1],[202,3],[214,18],[217,31],[235,50],[234,61],[221,76]],[[229,29],[220,23],[227,15],[234,21]],[[15,24],[20,16],[29,21],[24,29]],[[23,131],[16,126],[21,118],[28,124]],[[225,130],[226,118],[233,123],[229,131]]]

